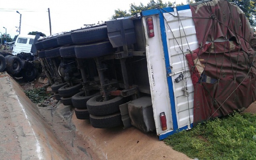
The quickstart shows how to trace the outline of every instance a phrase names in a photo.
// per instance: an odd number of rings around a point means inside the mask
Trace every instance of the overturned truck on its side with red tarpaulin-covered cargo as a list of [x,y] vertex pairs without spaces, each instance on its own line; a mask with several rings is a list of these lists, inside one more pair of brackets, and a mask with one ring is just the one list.
[[256,100],[253,28],[227,0],[152,9],[40,38],[55,98],[95,128],[160,140]]

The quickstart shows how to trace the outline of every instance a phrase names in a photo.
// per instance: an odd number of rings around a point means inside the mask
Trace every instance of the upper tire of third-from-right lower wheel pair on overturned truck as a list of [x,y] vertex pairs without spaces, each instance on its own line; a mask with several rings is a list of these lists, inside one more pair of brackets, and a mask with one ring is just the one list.
[[66,84],[58,89],[58,93],[61,97],[74,96],[76,93],[79,93],[79,89],[81,89],[82,87],[83,85],[81,83],[76,84],[72,87],[69,87]]

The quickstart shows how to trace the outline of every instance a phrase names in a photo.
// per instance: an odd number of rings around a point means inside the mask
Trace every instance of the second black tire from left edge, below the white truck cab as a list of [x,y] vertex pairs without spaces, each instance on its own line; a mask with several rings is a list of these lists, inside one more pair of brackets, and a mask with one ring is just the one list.
[[16,75],[20,73],[22,66],[21,66],[21,60],[19,57],[16,56],[10,56],[6,58],[6,71],[9,74]]

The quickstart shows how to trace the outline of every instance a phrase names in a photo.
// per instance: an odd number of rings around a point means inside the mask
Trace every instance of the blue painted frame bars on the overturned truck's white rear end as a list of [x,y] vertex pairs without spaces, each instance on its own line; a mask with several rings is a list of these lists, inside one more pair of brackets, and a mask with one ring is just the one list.
[[[190,9],[189,5],[184,6],[177,6],[177,11]],[[173,131],[170,131],[166,134],[159,135],[159,140],[163,140],[169,135],[175,134],[178,131],[182,131],[185,129],[189,129],[188,126],[178,128],[178,122],[177,122],[177,116],[176,116],[176,108],[175,108],[175,97],[174,97],[174,91],[173,91],[173,83],[172,83],[172,77],[167,76],[169,73],[172,73],[171,67],[169,66],[169,52],[168,52],[168,46],[167,46],[167,40],[166,40],[166,29],[165,29],[165,21],[163,17],[163,13],[167,12],[174,12],[174,9],[171,7],[167,7],[164,9],[152,9],[147,11],[142,11],[141,16],[150,16],[150,15],[159,15],[160,19],[160,31],[162,36],[162,42],[163,42],[163,52],[164,52],[164,58],[165,58],[165,64],[166,64],[166,79],[168,83],[168,89],[169,89],[169,97],[171,102],[171,112],[172,112],[172,122],[173,122]],[[190,128],[192,128],[193,124],[190,124]]]

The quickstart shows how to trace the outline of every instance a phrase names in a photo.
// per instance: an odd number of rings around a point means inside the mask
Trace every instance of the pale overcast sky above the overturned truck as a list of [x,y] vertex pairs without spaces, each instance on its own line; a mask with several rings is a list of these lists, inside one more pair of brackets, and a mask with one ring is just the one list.
[[[0,0],[0,32],[11,38],[38,31],[49,36],[49,13],[52,35],[84,27],[84,24],[102,23],[111,19],[115,9],[129,11],[130,4],[146,5],[150,0]],[[156,1],[156,0],[155,0]],[[165,2],[175,0],[163,0]],[[176,0],[176,3],[186,0]],[[18,14],[18,11],[20,14]],[[4,29],[5,27],[6,29]]]

